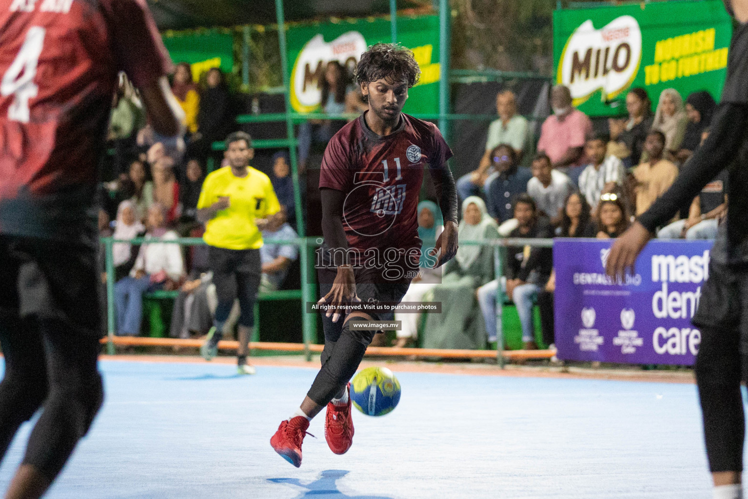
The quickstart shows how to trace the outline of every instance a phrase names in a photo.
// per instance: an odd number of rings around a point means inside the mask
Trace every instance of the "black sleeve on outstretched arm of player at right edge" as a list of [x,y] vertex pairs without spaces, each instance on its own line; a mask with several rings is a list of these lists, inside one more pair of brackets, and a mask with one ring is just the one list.
[[723,103],[711,122],[709,137],[696,149],[670,188],[638,221],[649,232],[670,220],[679,207],[693,199],[705,185],[732,163],[748,125],[748,105]]

